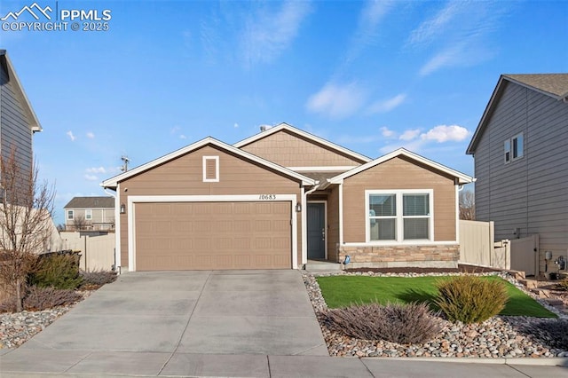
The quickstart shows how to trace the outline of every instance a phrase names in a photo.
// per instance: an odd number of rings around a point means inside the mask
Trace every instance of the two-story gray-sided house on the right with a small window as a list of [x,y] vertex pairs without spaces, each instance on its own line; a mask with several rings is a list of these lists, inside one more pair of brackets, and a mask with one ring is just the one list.
[[567,130],[568,74],[501,75],[467,149],[477,220],[494,221],[495,240],[538,235],[540,272],[547,251],[568,251]]

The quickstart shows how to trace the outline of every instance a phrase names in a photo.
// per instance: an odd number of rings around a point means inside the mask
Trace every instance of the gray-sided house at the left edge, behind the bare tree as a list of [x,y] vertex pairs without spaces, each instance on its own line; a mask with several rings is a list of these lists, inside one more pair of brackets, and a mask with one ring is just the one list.
[[32,169],[32,138],[41,130],[7,52],[0,50],[0,153],[6,157],[15,148],[21,169]]

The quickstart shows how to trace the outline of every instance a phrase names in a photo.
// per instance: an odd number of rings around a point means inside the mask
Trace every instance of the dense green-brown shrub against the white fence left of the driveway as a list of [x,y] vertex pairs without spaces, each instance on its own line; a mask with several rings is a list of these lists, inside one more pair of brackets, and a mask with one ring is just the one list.
[[82,280],[79,275],[79,256],[70,254],[43,256],[39,259],[36,270],[28,277],[29,284],[33,286],[68,289],[79,287]]

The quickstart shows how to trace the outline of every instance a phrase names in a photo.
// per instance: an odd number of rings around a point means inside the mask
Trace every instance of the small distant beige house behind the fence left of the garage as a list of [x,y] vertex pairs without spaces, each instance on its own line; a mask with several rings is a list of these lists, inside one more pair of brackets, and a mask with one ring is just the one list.
[[114,230],[113,197],[74,197],[63,209],[67,231]]

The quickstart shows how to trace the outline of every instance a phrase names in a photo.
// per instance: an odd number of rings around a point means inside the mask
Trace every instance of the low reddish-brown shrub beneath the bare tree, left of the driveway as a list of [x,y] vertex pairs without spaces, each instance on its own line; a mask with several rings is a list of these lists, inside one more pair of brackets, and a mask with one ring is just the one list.
[[[24,310],[43,311],[57,306],[73,304],[83,299],[83,295],[74,290],[53,287],[29,287],[24,297]],[[0,312],[16,311],[15,298],[0,304]]]

